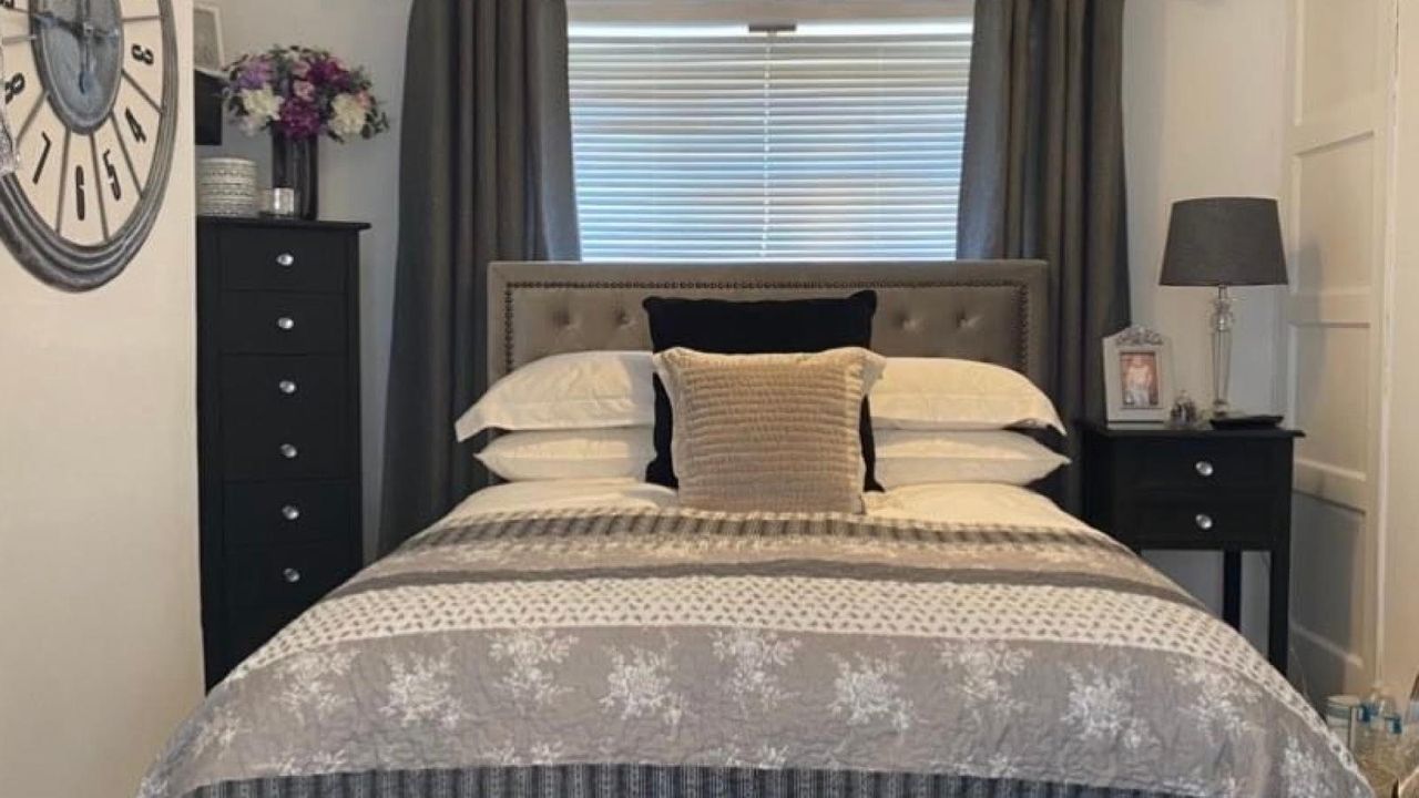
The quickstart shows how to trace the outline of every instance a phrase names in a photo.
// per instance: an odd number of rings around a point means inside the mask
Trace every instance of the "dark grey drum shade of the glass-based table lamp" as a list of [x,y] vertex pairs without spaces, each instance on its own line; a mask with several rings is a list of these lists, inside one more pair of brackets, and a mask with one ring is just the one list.
[[1286,285],[1276,200],[1205,197],[1172,204],[1164,285]]

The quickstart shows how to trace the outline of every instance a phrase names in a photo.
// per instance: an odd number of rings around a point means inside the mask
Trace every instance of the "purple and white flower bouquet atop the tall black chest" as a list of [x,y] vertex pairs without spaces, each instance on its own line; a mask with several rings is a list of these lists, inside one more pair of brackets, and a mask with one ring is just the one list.
[[227,109],[247,135],[271,131],[294,141],[373,138],[389,116],[363,68],[325,50],[274,47],[227,67]]

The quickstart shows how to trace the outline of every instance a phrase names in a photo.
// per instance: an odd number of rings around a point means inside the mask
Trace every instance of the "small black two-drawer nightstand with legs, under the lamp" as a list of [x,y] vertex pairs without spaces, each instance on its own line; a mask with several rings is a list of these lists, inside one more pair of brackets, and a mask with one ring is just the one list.
[[1084,521],[1134,551],[1222,551],[1222,616],[1242,622],[1242,552],[1271,555],[1267,650],[1286,673],[1297,430],[1078,422]]

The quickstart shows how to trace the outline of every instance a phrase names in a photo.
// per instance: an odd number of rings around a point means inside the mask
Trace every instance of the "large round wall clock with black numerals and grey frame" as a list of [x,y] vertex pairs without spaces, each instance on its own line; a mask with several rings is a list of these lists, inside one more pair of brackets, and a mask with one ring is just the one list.
[[20,158],[0,237],[45,283],[116,277],[152,230],[177,129],[172,0],[0,0],[0,92]]

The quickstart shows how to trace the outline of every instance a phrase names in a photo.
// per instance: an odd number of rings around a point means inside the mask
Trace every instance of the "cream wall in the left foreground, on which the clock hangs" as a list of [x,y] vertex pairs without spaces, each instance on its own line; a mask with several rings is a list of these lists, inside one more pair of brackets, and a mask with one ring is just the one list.
[[189,105],[165,210],[115,283],[64,294],[0,248],[7,798],[132,795],[201,694]]

